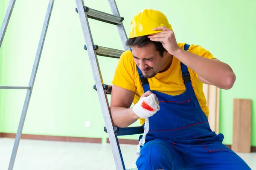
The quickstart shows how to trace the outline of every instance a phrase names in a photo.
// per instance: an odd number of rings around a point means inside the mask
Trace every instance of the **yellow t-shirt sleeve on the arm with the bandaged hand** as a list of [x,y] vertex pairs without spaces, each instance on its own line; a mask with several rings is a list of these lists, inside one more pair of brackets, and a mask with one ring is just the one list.
[[117,63],[112,84],[135,92],[134,67],[135,62],[131,51],[125,51]]

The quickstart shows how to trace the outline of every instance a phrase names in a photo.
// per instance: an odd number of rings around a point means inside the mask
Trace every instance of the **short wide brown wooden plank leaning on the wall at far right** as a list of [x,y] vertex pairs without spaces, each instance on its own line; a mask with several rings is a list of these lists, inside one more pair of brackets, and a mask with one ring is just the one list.
[[251,152],[251,100],[233,99],[233,141],[234,152]]

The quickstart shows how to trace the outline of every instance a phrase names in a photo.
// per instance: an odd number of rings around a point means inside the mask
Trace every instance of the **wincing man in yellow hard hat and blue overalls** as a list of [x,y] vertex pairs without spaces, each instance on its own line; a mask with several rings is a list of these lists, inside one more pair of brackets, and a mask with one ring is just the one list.
[[232,88],[232,68],[199,45],[177,43],[166,16],[152,9],[134,16],[127,45],[113,77],[111,114],[118,127],[140,119],[145,128],[138,170],[250,170],[207,120],[203,83]]

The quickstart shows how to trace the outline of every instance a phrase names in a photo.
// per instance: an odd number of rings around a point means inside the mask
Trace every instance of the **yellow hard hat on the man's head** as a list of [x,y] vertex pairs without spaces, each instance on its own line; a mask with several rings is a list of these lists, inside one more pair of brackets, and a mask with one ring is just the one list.
[[129,38],[161,32],[162,30],[153,31],[153,28],[160,26],[165,26],[172,30],[171,24],[169,24],[167,17],[162,12],[153,9],[144,9],[131,20]]

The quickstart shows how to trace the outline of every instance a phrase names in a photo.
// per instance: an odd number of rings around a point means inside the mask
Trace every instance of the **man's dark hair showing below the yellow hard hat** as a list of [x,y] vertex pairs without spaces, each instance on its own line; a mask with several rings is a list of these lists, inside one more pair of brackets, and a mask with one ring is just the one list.
[[126,45],[129,47],[137,46],[137,47],[143,47],[148,44],[154,44],[157,51],[159,51],[159,54],[161,57],[163,57],[163,52],[165,51],[165,48],[163,48],[163,45],[161,42],[151,41],[148,38],[148,35],[141,36],[141,37],[135,37],[135,38],[129,38],[126,41]]

